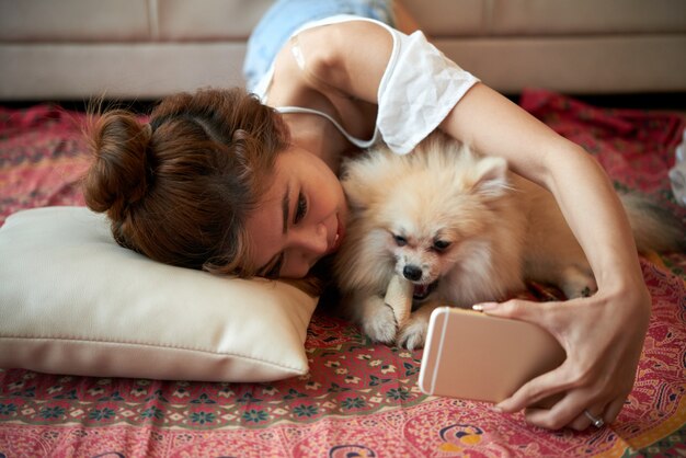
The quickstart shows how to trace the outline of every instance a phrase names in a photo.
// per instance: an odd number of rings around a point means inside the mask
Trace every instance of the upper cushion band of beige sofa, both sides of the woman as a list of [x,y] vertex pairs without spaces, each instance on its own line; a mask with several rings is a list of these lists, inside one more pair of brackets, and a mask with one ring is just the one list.
[[[402,0],[427,35],[686,32],[684,0]],[[271,0],[0,0],[0,41],[244,41]]]

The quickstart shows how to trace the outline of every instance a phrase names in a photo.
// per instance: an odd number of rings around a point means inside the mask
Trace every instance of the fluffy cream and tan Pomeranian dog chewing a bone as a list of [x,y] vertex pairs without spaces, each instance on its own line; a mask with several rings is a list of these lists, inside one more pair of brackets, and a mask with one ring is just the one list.
[[[343,316],[374,341],[424,344],[432,310],[503,300],[526,280],[568,298],[597,289],[582,248],[552,194],[443,134],[398,156],[371,150],[343,164],[351,208],[333,260]],[[639,250],[684,245],[678,226],[640,198],[624,197]],[[413,284],[413,311],[398,329],[384,296],[393,275]]]

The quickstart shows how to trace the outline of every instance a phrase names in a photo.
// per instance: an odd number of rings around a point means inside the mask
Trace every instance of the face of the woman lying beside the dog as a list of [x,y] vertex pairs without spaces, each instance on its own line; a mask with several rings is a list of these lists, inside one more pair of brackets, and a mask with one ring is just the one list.
[[270,190],[248,218],[250,262],[259,276],[301,278],[339,249],[346,217],[335,174],[319,157],[291,146],[277,156]]

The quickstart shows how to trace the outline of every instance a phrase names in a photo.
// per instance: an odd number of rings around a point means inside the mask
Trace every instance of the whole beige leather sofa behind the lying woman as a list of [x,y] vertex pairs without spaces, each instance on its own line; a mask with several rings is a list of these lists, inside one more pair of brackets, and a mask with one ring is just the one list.
[[[505,93],[686,91],[685,0],[402,0]],[[242,84],[267,0],[0,0],[0,101],[153,99]]]

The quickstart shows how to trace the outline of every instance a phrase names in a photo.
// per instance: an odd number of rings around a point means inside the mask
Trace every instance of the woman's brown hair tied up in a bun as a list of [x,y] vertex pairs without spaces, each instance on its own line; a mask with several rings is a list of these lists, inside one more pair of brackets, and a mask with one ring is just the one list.
[[114,110],[89,127],[85,203],[123,247],[171,265],[254,275],[243,222],[267,188],[287,129],[242,89],[163,99],[149,124]]

